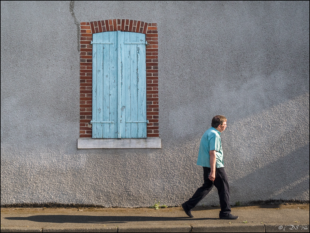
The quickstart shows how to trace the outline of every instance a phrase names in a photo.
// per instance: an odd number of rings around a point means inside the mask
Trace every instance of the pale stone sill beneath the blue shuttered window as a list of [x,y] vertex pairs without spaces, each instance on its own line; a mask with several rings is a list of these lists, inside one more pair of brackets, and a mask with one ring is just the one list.
[[162,148],[159,137],[148,138],[78,138],[78,149]]

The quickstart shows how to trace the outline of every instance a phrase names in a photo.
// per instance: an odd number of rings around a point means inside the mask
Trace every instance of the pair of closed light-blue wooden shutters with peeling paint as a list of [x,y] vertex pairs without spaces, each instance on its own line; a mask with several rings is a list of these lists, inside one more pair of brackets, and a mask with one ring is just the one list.
[[92,122],[93,138],[146,138],[144,34],[93,34]]

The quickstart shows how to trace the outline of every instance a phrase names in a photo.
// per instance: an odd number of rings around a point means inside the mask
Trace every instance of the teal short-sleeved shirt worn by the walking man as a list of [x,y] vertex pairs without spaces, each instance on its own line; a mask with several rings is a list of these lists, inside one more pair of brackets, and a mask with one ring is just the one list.
[[201,138],[197,165],[210,168],[210,150],[216,150],[216,168],[224,167],[220,132],[211,127]]

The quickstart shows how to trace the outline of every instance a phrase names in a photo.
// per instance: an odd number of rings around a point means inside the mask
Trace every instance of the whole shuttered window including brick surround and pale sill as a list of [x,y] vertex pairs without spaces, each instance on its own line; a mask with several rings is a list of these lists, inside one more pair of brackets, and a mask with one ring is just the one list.
[[[81,22],[80,29],[80,137],[78,138],[78,148],[161,148],[158,125],[159,102],[157,24],[128,19],[110,19],[93,22]],[[120,36],[118,36],[118,34]],[[130,36],[129,39],[127,38],[125,41],[126,35]],[[136,41],[131,39],[132,37],[135,37],[134,35],[137,36]],[[142,36],[142,38],[138,38],[138,36]],[[110,40],[111,37],[114,38],[114,42],[113,39]],[[122,37],[124,38],[124,51],[121,49],[121,43],[119,43],[119,54],[117,51],[117,40],[121,40]],[[106,38],[108,40],[106,40]],[[145,41],[147,41],[147,45],[143,44]],[[98,42],[108,43],[98,44]],[[125,44],[128,42],[142,44]],[[110,49],[110,47],[116,49],[114,53],[113,49]],[[130,58],[129,60],[128,57],[125,59],[126,49],[128,56],[128,48],[130,48],[131,52],[132,47],[135,48],[133,51],[135,51],[134,54],[136,54],[136,57],[131,59],[133,61],[138,59],[138,62],[135,63],[135,66],[138,65],[138,67],[135,67],[135,69],[131,66],[134,63],[130,61]],[[102,49],[102,62],[97,60],[100,49]],[[144,49],[144,53],[142,53],[141,49]],[[105,61],[106,65],[104,65],[104,52],[106,51],[109,51],[109,56],[110,52],[112,52],[111,58],[114,56],[116,60],[113,59],[113,61],[116,61],[116,63],[110,64],[109,60]],[[97,54],[94,59],[93,52]],[[145,56],[144,64],[141,62],[143,55]],[[118,59],[120,60],[118,61]],[[139,64],[139,61],[141,64]],[[98,67],[100,67],[100,63],[102,64],[102,69],[97,69],[97,63]],[[118,64],[119,66],[117,66]],[[144,67],[142,67],[143,65]],[[107,74],[104,75],[104,72],[107,72],[105,71],[106,67],[109,69],[108,82],[106,77]],[[129,76],[126,76],[126,72],[128,73],[129,67],[130,74]],[[93,69],[96,70],[95,75]],[[100,81],[100,78],[97,79],[98,70],[99,73],[102,73],[100,74],[102,75],[102,81]],[[131,77],[131,75],[134,74],[132,70],[136,71],[137,82],[135,83],[130,80],[130,85],[128,85],[129,81],[123,79],[126,77]],[[144,73],[141,73],[142,70],[144,70]],[[112,75],[112,79],[110,73]],[[143,83],[141,77],[143,74],[146,76],[143,78],[143,80],[146,81],[146,84],[144,83],[144,87],[142,88],[141,85]],[[93,80],[94,76],[96,78],[96,82]],[[115,84],[110,82],[111,80],[114,80],[114,77]],[[120,82],[120,84],[118,84],[118,82]],[[93,84],[96,85],[96,88],[97,85],[99,85],[99,87],[101,85],[101,89],[99,88],[99,90],[102,91],[98,91],[98,88],[96,89],[96,98],[93,96]],[[128,87],[128,89],[130,88],[131,91],[128,92],[128,90],[124,88],[124,85]],[[106,88],[106,90],[104,90],[104,88]],[[136,100],[133,99],[133,90],[136,90],[137,93]],[[144,93],[141,94],[141,90],[144,90]],[[106,93],[108,93],[108,96]],[[144,95],[146,95],[146,99]],[[99,103],[97,100],[102,101],[102,103]],[[99,107],[97,107],[97,104],[99,104]],[[93,105],[96,105],[96,107],[93,107]],[[102,106],[102,108],[100,106]],[[136,109],[133,109],[133,106],[137,106]],[[107,109],[109,109],[109,111],[107,111]],[[128,116],[128,114],[130,114],[130,116]],[[125,118],[125,120],[123,118]],[[148,121],[148,123],[145,123],[145,121]],[[120,132],[120,135],[118,135],[118,132]],[[93,138],[93,136],[95,137]]]

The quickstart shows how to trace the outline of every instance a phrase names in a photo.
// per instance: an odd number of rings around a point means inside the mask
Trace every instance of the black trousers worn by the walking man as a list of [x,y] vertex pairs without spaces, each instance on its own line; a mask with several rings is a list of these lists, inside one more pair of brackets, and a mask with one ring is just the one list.
[[209,174],[211,168],[203,167],[203,185],[197,189],[194,195],[185,202],[189,209],[194,208],[215,186],[219,193],[219,204],[221,206],[221,211],[219,212],[219,217],[228,215],[231,212],[229,204],[229,185],[228,178],[224,168],[215,169],[215,180],[210,181]]

